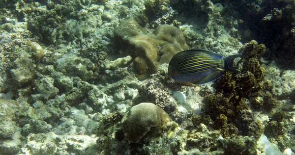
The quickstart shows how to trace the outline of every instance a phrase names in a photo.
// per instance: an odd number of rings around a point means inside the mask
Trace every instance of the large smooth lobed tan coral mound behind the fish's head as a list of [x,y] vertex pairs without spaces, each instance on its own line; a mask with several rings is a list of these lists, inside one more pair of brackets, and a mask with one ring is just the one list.
[[134,19],[127,19],[115,29],[114,36],[122,52],[132,56],[131,67],[137,78],[157,72],[159,63],[168,63],[177,52],[187,50],[182,32],[175,26],[160,25],[152,34]]

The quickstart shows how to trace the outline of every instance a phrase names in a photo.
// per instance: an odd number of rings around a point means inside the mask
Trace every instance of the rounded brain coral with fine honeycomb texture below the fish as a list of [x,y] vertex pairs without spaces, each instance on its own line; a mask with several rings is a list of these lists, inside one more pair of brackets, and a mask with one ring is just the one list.
[[127,139],[138,143],[152,127],[160,127],[171,121],[170,116],[153,103],[133,106],[121,120],[122,130]]

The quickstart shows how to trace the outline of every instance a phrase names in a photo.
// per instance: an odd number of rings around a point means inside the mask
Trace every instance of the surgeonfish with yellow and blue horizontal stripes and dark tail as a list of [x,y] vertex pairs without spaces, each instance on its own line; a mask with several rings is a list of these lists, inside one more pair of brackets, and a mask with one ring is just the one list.
[[168,67],[168,76],[185,85],[204,84],[220,78],[225,71],[238,73],[234,60],[242,55],[224,58],[207,50],[187,50],[173,56]]

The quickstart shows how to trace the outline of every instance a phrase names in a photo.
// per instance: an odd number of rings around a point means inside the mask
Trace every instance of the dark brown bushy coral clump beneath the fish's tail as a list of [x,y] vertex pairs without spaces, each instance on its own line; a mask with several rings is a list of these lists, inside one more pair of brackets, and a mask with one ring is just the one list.
[[213,127],[221,129],[224,136],[260,135],[263,128],[255,125],[251,110],[269,111],[277,103],[270,93],[273,86],[264,78],[265,69],[260,62],[265,50],[265,46],[256,41],[245,44],[242,73],[227,72],[212,85],[216,93],[204,99],[205,113],[215,118]]

